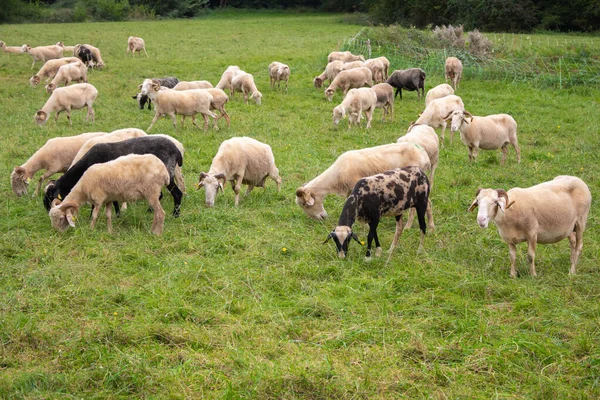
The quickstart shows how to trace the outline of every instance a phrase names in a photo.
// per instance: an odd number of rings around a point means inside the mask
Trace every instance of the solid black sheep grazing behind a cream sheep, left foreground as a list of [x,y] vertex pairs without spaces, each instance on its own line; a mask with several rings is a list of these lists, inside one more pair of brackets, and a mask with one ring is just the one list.
[[165,137],[142,136],[115,143],[97,143],[60,178],[46,186],[44,207],[50,209],[54,199],[65,198],[84,173],[94,164],[105,163],[128,154],[154,154],[167,167],[167,189],[173,196],[173,216],[179,216],[183,193],[175,184],[175,168],[183,165],[183,154],[175,143]]

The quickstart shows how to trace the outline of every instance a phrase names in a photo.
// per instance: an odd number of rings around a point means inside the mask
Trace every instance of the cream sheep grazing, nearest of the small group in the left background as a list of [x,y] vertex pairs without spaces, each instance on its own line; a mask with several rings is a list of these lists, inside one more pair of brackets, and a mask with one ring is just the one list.
[[66,111],[69,125],[73,126],[71,123],[71,109],[79,110],[86,106],[88,112],[85,120],[87,122],[91,117],[93,122],[94,110],[92,109],[92,104],[94,104],[96,96],[98,96],[98,90],[89,83],[77,83],[75,85],[57,88],[52,95],[50,95],[50,98],[46,101],[44,107],[35,114],[35,122],[40,126],[44,125],[53,111],[56,111],[55,121],[58,121],[60,113]]

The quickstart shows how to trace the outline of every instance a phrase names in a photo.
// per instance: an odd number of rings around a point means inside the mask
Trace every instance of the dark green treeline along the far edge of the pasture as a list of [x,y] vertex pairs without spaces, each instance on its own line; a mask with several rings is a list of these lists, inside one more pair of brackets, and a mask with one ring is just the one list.
[[595,32],[599,0],[4,0],[0,23],[193,18],[214,9],[296,9],[363,13],[371,24],[481,31]]

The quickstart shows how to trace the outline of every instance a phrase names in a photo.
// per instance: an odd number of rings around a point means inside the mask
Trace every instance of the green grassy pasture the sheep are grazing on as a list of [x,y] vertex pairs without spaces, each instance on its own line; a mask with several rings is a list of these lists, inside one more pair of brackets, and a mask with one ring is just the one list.
[[[339,260],[322,245],[344,199],[325,202],[330,218],[308,220],[294,191],[342,152],[394,142],[423,104],[397,99],[393,122],[346,129],[331,123],[341,101],[325,100],[312,78],[327,54],[359,27],[336,16],[216,14],[193,21],[3,25],[0,40],[90,43],[107,67],[89,76],[100,94],[96,122],[73,112],[33,122],[47,95],[31,88],[27,55],[0,56],[0,398],[598,398],[600,286],[594,200],[578,274],[568,276],[568,242],[540,245],[538,277],[508,277],[508,248],[496,228],[466,212],[477,187],[527,187],[559,174],[600,194],[597,88],[542,90],[465,80],[459,94],[474,115],[506,112],[519,124],[522,162],[512,148],[481,151],[470,165],[458,138],[440,153],[432,193],[436,229],[418,254],[418,231],[370,263],[351,245]],[[125,55],[129,35],[150,58]],[[542,42],[540,42],[542,43]],[[374,54],[378,55],[378,54]],[[267,66],[292,68],[289,92],[271,91]],[[49,138],[123,127],[146,129],[154,112],[131,96],[143,78],[216,83],[228,65],[254,74],[263,105],[227,105],[230,128],[167,133],[186,147],[181,217],[167,215],[160,238],[151,215],[132,204],[106,232],[83,210],[64,234],[50,227],[41,198],[16,198],[9,175]],[[36,66],[39,68],[40,64]],[[392,65],[392,69],[395,66]],[[440,68],[441,70],[441,68]],[[427,89],[442,83],[428,71]],[[267,181],[233,206],[227,187],[214,208],[194,185],[219,144],[252,136],[273,148],[284,183]],[[32,191],[30,190],[30,193]],[[170,196],[163,206],[172,210]],[[366,227],[357,226],[366,240]],[[379,235],[389,246],[394,220]],[[385,253],[384,253],[385,254]]]

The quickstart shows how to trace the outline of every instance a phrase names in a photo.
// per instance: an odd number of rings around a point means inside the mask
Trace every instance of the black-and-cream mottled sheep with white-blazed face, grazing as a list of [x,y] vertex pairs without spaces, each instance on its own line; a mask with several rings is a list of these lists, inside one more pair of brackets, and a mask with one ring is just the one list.
[[371,244],[375,239],[375,256],[381,255],[377,236],[377,226],[381,217],[396,217],[396,233],[390,247],[390,254],[402,234],[402,214],[407,209],[416,209],[421,228],[419,250],[423,248],[427,225],[425,214],[431,214],[429,207],[429,180],[419,167],[396,168],[360,179],[346,199],[337,227],[327,236],[326,243],[333,239],[338,256],[345,258],[350,239],[360,243],[352,225],[358,219],[369,225],[367,238],[367,260],[371,257]]

